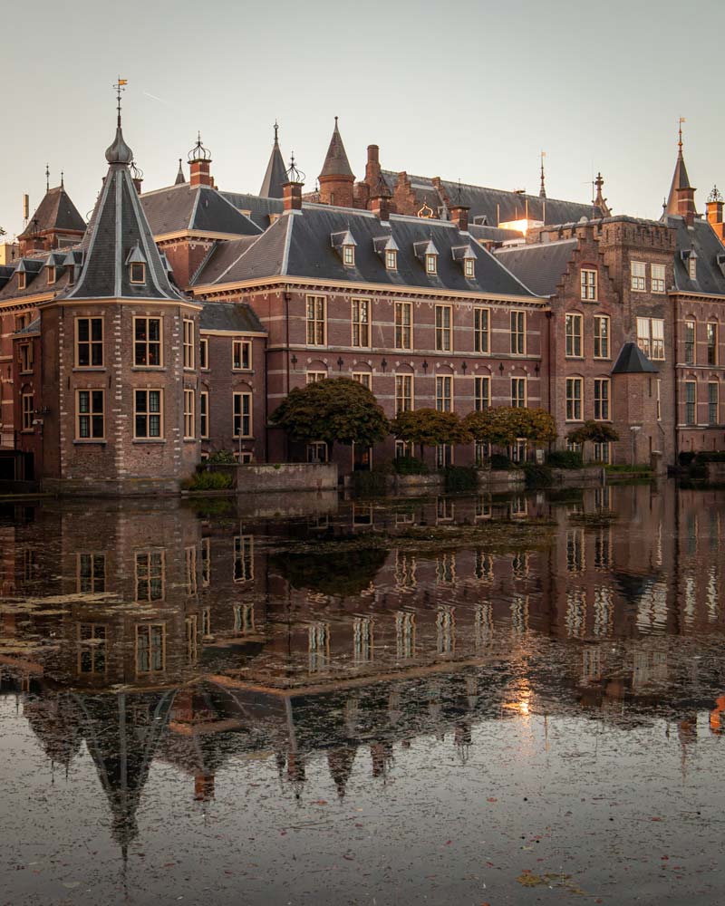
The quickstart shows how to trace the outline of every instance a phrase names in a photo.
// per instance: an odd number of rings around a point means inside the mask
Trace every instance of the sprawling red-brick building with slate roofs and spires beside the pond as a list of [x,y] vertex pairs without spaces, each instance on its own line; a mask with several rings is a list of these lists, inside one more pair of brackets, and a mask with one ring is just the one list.
[[[277,128],[259,196],[222,192],[199,138],[189,181],[141,193],[121,130],[88,227],[48,188],[0,266],[0,462],[58,490],[173,490],[219,449],[315,459],[269,425],[286,393],[344,375],[409,408],[585,419],[604,461],[721,449],[723,203],[698,217],[681,144],[660,220],[412,177],[368,148],[356,182],[337,121],[319,189]],[[474,445],[430,464],[477,461]],[[530,451],[529,451],[530,452]],[[338,451],[341,470],[401,453]],[[513,448],[514,457],[527,455]]]

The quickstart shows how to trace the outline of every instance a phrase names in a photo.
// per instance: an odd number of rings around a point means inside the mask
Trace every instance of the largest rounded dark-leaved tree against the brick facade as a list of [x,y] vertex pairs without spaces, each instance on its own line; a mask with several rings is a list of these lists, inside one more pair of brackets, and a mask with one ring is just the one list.
[[272,413],[273,424],[295,440],[371,447],[390,433],[390,423],[371,391],[349,378],[314,381],[292,390]]

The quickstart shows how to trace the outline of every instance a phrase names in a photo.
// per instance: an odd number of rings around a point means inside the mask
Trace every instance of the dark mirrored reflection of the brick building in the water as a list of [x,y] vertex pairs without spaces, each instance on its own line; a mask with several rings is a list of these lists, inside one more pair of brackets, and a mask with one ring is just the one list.
[[[384,780],[415,737],[449,738],[465,764],[481,721],[680,701],[684,750],[698,710],[725,726],[723,678],[687,658],[725,628],[723,503],[664,483],[317,496],[291,517],[227,500],[5,506],[2,690],[54,766],[85,744],[124,851],[154,759],[207,801],[220,766],[255,753],[301,797],[323,754],[342,798],[353,765]],[[481,525],[498,526],[485,543]],[[703,680],[711,698],[692,691]]]

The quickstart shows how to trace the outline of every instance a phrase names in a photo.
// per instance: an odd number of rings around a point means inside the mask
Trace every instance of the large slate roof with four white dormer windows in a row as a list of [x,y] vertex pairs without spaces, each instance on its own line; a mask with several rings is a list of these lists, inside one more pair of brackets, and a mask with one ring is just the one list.
[[[331,236],[350,230],[355,246],[355,265],[343,265],[342,255],[335,250]],[[376,251],[382,245],[375,240],[391,236],[399,248],[398,268],[389,271],[383,255]],[[437,248],[438,273],[428,274],[425,262],[416,255],[416,244],[429,242]],[[531,296],[527,288],[486,249],[473,245],[475,276],[467,278],[463,262],[454,260],[453,249],[469,244],[469,236],[456,226],[441,220],[392,215],[382,223],[369,211],[328,205],[303,205],[302,213],[280,217],[256,242],[222,273],[216,271],[213,281],[206,269],[197,284],[225,284],[269,276],[299,276],[340,282],[417,286],[460,292]]]

